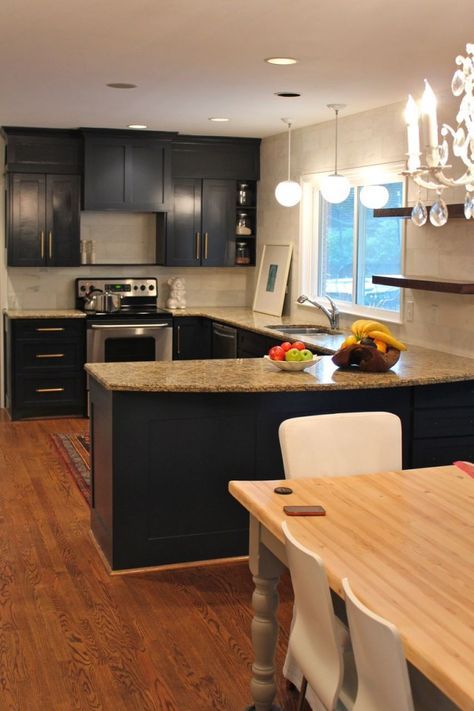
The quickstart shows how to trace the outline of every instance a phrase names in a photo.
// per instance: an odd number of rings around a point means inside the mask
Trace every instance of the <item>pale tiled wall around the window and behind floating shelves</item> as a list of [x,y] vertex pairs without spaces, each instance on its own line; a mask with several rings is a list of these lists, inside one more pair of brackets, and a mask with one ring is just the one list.
[[[446,94],[439,97],[439,119],[455,124],[459,103]],[[403,104],[392,104],[372,111],[344,117],[339,115],[338,168],[394,163],[405,160],[406,128]],[[334,121],[292,129],[291,177],[299,180],[305,173],[333,171]],[[258,248],[264,244],[294,244],[289,293],[285,314],[298,322],[323,322],[316,310],[298,306],[300,291],[299,231],[300,206],[281,207],[274,189],[287,175],[287,134],[280,133],[262,141],[261,182],[259,185]],[[422,196],[426,198],[426,195]],[[445,200],[463,202],[464,191],[456,195],[446,191]],[[413,204],[415,186],[409,186],[408,199]],[[430,193],[433,201],[433,193]],[[474,220],[450,219],[444,227],[430,224],[417,228],[407,222],[405,273],[446,279],[474,281]],[[447,352],[474,353],[474,296],[405,290],[405,301],[414,303],[414,319],[394,327],[408,342]],[[349,325],[353,316],[342,319]],[[404,319],[403,319],[404,320]]]

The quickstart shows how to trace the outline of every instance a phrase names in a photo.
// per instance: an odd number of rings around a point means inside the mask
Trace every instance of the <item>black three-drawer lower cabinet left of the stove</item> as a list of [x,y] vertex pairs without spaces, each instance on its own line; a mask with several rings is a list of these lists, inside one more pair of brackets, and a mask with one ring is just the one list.
[[6,318],[5,335],[11,418],[83,417],[85,320]]

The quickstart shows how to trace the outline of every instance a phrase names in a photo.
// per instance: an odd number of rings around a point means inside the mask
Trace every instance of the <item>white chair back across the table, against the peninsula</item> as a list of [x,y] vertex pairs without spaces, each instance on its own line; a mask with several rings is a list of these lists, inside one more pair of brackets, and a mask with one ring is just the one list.
[[390,412],[294,417],[278,434],[287,479],[402,468],[401,422]]

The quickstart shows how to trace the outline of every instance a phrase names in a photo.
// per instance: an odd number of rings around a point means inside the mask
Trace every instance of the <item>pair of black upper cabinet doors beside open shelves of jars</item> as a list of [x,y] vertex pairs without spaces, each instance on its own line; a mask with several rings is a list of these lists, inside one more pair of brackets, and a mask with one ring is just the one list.
[[233,265],[235,181],[175,179],[166,249],[162,252],[163,263],[168,266]]

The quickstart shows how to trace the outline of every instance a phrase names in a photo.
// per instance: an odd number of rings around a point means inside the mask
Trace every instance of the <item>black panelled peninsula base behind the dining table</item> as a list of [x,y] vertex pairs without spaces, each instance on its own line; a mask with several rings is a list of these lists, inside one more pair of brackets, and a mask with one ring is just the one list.
[[410,389],[333,393],[131,393],[91,383],[91,528],[111,568],[248,553],[248,514],[232,479],[283,478],[278,427],[288,417],[377,410],[404,424]]

